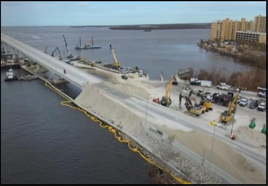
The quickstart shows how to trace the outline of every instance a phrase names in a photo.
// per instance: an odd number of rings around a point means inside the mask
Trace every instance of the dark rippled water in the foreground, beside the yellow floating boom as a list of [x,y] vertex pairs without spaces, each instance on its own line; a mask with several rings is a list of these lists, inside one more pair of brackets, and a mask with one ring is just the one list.
[[4,77],[1,184],[151,184],[145,160],[44,82]]

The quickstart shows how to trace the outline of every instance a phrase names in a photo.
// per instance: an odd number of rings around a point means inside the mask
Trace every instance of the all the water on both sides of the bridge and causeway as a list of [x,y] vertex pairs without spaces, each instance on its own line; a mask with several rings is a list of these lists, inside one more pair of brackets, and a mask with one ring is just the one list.
[[[178,68],[191,65],[196,69],[242,67],[196,46],[201,38],[208,38],[209,29],[3,27],[1,32],[42,51],[48,46],[50,53],[56,47],[65,50],[62,33],[73,54],[79,37],[84,44],[93,36],[95,45],[103,48],[83,51],[84,57],[112,62],[112,44],[119,62],[148,69],[154,79],[159,79],[160,71],[167,79]],[[62,106],[63,98],[44,82],[4,82],[4,77],[2,71],[1,184],[151,184],[145,160],[82,112]],[[70,84],[59,88],[73,98],[80,93]]]

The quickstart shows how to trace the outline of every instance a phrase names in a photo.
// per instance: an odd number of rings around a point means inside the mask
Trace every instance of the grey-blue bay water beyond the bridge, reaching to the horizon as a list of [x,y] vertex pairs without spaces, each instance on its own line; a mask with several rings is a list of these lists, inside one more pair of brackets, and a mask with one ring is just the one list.
[[[196,45],[200,39],[209,38],[210,29],[142,32],[142,30],[109,30],[107,27],[2,27],[1,32],[25,41],[41,51],[47,46],[49,53],[52,53],[59,47],[62,55],[63,51],[65,55],[67,54],[63,33],[72,54],[76,54],[74,47],[79,44],[79,37],[82,39],[82,45],[94,37],[94,45],[103,48],[84,50],[83,57],[112,63],[113,57],[109,51],[111,44],[120,63],[146,69],[150,71],[152,79],[159,79],[160,71],[164,72],[165,79],[169,79],[174,71],[190,66],[194,66],[196,70],[213,66],[230,71],[243,68],[242,65],[235,63],[233,58],[200,49]],[[36,37],[42,37],[43,40]]]

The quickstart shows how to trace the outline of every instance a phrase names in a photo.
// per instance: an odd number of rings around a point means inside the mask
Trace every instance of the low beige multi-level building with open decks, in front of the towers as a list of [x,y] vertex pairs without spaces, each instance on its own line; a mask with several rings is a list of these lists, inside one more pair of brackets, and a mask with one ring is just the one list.
[[243,40],[246,42],[259,42],[266,44],[266,33],[237,31],[236,40]]

